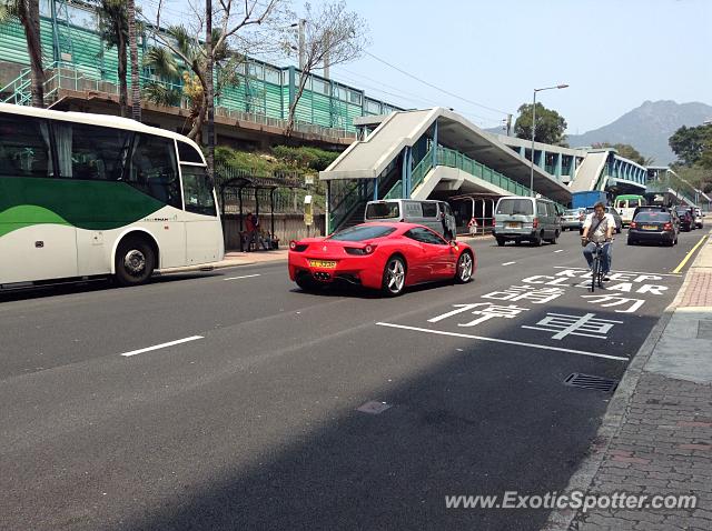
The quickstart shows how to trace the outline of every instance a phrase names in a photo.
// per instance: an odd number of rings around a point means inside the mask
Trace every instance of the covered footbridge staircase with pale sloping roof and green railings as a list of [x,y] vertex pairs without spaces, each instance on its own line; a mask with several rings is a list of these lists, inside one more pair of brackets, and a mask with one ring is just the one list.
[[[374,199],[446,199],[455,193],[528,196],[532,166],[520,152],[444,108],[394,112],[365,127],[319,178],[329,231],[363,219]],[[379,123],[376,123],[379,121]],[[534,166],[534,192],[561,204],[571,190]]]

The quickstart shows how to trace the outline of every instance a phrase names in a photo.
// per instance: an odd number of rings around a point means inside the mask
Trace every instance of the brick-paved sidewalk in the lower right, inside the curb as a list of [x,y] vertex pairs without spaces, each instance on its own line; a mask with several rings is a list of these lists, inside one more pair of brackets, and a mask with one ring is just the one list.
[[698,500],[695,509],[560,510],[546,529],[712,530],[712,238],[631,362],[566,490]]

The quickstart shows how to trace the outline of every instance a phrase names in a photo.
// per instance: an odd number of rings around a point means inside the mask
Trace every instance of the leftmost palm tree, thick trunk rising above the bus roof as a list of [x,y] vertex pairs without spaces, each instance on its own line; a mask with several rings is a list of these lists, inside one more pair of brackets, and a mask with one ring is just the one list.
[[39,0],[0,0],[0,24],[11,19],[19,20],[24,29],[27,51],[30,56],[32,107],[44,107]]

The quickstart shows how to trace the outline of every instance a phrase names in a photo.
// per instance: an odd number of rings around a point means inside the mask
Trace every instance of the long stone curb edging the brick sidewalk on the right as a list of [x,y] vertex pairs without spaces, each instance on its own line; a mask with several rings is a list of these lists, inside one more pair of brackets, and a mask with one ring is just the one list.
[[[619,383],[615,393],[613,393],[613,398],[609,403],[609,408],[603,415],[601,427],[599,428],[599,431],[596,432],[596,435],[593,440],[590,454],[584,458],[584,460],[578,465],[578,469],[571,477],[568,483],[564,488],[564,492],[586,492],[591,487],[593,478],[596,475],[599,469],[601,468],[601,463],[603,463],[603,459],[605,458],[609,448],[611,447],[611,442],[619,434],[621,428],[623,427],[623,421],[625,419],[625,413],[627,412],[629,403],[633,397],[633,393],[635,392],[635,389],[637,388],[641,374],[643,373],[643,368],[655,350],[655,345],[660,341],[660,338],[665,331],[665,328],[668,328],[668,324],[670,323],[673,313],[678,309],[678,305],[682,302],[684,292],[691,282],[691,275],[689,273],[694,264],[699,261],[700,256],[701,253],[698,253],[694,261],[688,268],[684,280],[682,281],[682,285],[678,290],[675,298],[665,308],[662,315],[647,334],[647,338],[645,338],[645,341],[633,357],[633,360],[623,374],[621,383]],[[577,509],[555,509],[550,513],[548,519],[546,520],[546,523],[544,524],[542,530],[568,531],[577,513]]]

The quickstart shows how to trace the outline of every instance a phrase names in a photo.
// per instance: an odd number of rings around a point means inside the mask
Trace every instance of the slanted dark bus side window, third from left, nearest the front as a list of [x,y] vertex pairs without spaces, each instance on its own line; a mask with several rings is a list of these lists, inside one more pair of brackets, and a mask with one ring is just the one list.
[[159,201],[182,208],[176,149],[172,140],[136,134],[128,182]]

